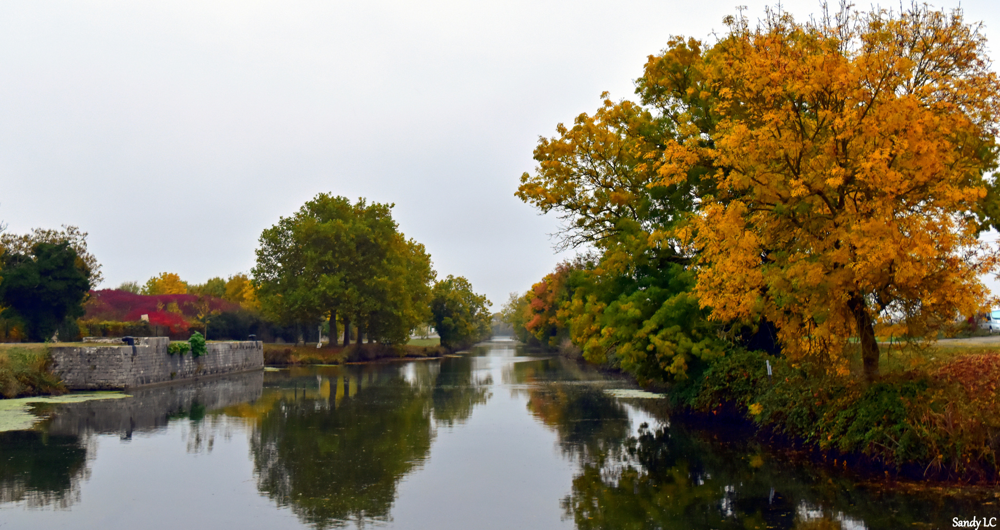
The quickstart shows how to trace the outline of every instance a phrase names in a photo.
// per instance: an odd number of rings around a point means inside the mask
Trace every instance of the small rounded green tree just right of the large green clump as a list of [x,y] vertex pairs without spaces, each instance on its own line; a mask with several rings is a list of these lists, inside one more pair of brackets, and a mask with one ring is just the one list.
[[489,337],[493,315],[485,296],[476,294],[462,276],[448,275],[434,284],[431,314],[441,345],[464,348]]

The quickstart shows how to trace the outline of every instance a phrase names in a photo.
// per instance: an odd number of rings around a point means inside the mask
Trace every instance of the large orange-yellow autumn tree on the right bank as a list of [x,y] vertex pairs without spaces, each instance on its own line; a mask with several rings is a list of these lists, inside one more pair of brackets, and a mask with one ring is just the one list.
[[1000,84],[985,38],[926,7],[728,22],[699,66],[719,169],[690,226],[695,292],[839,373],[856,337],[873,379],[879,319],[934,336],[987,299]]

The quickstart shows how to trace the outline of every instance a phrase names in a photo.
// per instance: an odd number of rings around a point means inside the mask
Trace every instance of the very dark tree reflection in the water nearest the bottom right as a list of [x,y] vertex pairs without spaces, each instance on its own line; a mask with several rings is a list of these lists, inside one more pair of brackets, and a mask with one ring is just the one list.
[[562,501],[581,530],[938,528],[979,503],[869,487],[769,453],[748,430],[678,422],[642,424],[619,448],[589,453]]

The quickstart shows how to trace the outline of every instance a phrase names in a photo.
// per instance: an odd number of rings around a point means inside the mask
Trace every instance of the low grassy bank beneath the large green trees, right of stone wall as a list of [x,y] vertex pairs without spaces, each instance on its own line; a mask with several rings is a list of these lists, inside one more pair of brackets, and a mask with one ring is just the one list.
[[374,361],[377,359],[400,359],[438,357],[443,350],[437,345],[386,345],[352,344],[348,347],[324,345],[264,344],[264,364],[342,364],[348,362]]

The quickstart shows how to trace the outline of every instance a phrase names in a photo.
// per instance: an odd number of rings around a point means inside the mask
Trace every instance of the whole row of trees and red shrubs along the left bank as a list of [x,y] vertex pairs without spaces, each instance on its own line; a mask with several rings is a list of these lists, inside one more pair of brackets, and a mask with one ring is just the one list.
[[197,331],[211,339],[327,335],[329,346],[403,345],[428,327],[445,348],[486,338],[490,302],[463,277],[437,280],[430,255],[399,231],[391,209],[321,193],[261,234],[249,275],[195,284],[164,272],[96,291],[100,265],[78,228],[2,234],[0,340]]

